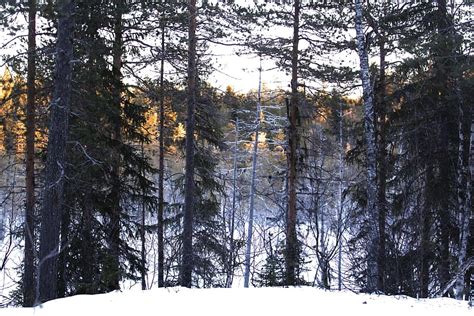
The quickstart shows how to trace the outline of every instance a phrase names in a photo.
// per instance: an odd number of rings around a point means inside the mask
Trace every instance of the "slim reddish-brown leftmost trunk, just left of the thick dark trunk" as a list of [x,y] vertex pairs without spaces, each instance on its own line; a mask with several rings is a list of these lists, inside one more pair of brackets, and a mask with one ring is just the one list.
[[35,96],[36,96],[36,0],[28,1],[28,75],[26,103],[26,209],[23,306],[35,302]]

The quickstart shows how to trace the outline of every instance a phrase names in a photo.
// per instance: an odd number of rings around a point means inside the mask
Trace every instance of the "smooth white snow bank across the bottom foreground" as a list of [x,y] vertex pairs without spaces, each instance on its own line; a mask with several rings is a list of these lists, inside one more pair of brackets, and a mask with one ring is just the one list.
[[356,294],[316,288],[168,288],[77,295],[36,308],[0,309],[1,316],[93,315],[474,315],[466,301],[450,298]]

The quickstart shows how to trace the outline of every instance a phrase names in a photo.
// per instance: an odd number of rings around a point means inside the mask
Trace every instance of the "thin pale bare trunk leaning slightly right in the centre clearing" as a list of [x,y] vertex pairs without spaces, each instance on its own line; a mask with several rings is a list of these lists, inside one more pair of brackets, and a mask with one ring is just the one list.
[[245,249],[245,271],[244,287],[250,285],[250,259],[252,255],[253,238],[253,217],[255,209],[255,180],[257,178],[257,158],[258,158],[258,134],[260,133],[260,107],[262,93],[262,58],[260,57],[260,67],[258,68],[258,95],[257,95],[257,115],[255,118],[255,141],[252,153],[252,179],[250,181],[250,202],[249,202],[249,222],[247,227],[247,245]]

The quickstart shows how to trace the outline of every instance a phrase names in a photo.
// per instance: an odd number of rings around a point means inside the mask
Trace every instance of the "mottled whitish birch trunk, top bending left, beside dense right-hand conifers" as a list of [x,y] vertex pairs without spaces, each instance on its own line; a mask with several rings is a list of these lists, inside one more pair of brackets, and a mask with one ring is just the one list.
[[367,206],[366,218],[368,223],[367,241],[367,284],[368,292],[375,292],[379,289],[379,232],[377,218],[377,148],[375,133],[375,111],[373,101],[373,91],[369,74],[369,59],[365,43],[365,34],[362,25],[363,8],[361,0],[355,0],[355,28],[357,38],[357,51],[360,60],[360,77],[364,94],[364,131],[367,145]]

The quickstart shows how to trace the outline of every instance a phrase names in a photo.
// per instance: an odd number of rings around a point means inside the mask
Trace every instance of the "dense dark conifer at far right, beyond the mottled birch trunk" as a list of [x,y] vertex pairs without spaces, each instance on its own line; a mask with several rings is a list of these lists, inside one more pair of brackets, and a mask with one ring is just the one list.
[[[419,271],[414,281],[398,273],[397,278],[402,280],[397,283],[403,282],[410,288],[407,291],[421,297],[433,295],[436,287],[444,288],[451,279],[454,253],[450,245],[457,243],[453,237],[457,234],[455,226],[460,225],[454,219],[455,205],[459,204],[457,169],[463,165],[453,163],[451,157],[459,159],[459,153],[464,151],[463,146],[459,146],[462,143],[459,132],[468,129],[467,122],[460,128],[458,106],[462,102],[456,101],[462,101],[469,91],[468,80],[460,81],[461,89],[455,84],[467,65],[456,48],[460,47],[457,45],[462,37],[453,37],[448,31],[453,28],[440,26],[450,20],[442,8],[443,5],[429,3],[411,9],[417,29],[411,36],[402,36],[400,43],[410,53],[416,52],[416,57],[405,59],[397,67],[393,96],[401,110],[391,116],[400,126],[395,133],[401,138],[396,141],[407,149],[407,155],[396,158],[399,167],[394,170],[396,185],[403,185],[407,193],[396,197],[393,215],[400,216],[398,214],[406,208],[410,221],[417,223],[407,230],[412,232],[408,238],[416,245],[416,252],[406,250],[402,266],[406,271],[415,267]],[[417,45],[413,45],[414,41]],[[453,59],[457,59],[456,66],[452,64]],[[396,233],[405,225],[407,215],[403,217],[405,219],[395,217],[400,221],[392,225]]]

